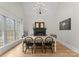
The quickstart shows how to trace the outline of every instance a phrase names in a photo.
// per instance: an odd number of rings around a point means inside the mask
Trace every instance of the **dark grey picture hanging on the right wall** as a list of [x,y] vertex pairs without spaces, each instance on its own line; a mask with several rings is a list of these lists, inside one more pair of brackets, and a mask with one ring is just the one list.
[[60,30],[71,30],[71,18],[68,18],[59,23]]

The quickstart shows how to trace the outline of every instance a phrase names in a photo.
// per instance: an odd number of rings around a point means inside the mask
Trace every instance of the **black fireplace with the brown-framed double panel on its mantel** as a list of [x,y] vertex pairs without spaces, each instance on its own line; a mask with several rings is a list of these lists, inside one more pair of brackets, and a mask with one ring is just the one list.
[[35,22],[33,31],[34,31],[34,36],[45,36],[46,28],[44,22]]

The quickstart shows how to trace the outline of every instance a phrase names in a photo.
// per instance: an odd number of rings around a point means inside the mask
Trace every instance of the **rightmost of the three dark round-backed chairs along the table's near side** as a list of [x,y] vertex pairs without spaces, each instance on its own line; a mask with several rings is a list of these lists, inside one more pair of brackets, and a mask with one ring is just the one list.
[[51,36],[47,36],[45,38],[44,49],[45,49],[45,53],[46,53],[47,49],[51,49],[51,51],[53,53],[53,51],[54,51],[54,41],[53,41],[53,38]]

